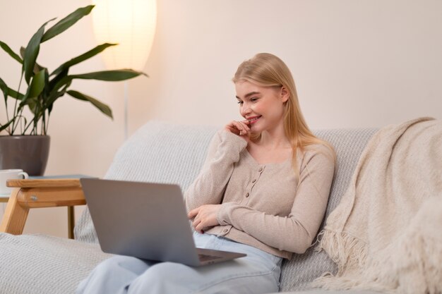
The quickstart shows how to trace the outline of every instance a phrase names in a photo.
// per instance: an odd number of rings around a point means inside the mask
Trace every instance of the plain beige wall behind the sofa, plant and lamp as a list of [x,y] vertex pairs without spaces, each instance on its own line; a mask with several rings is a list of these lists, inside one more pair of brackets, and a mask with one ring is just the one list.
[[[89,4],[0,1],[0,39],[15,50],[44,21]],[[230,78],[260,51],[277,54],[292,69],[312,128],[442,118],[441,15],[440,0],[158,0],[157,35],[145,66],[150,78],[129,82],[129,131],[152,119],[222,125],[239,118]],[[43,44],[40,63],[53,70],[94,47],[91,25],[86,17]],[[0,52],[0,65],[1,78],[17,85],[18,64]],[[97,56],[74,72],[103,68]],[[114,121],[62,98],[51,116],[47,174],[104,176],[124,141],[123,82],[75,82],[73,89],[109,104]],[[65,218],[64,208],[36,210],[25,231],[64,236]]]

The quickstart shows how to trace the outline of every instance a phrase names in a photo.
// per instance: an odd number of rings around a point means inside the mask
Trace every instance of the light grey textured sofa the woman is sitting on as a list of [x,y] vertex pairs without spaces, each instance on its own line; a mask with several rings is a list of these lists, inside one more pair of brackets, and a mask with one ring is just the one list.
[[[211,137],[218,128],[149,122],[127,140],[104,178],[157,183],[178,183],[182,190],[197,176]],[[318,130],[338,154],[327,215],[337,206],[357,160],[375,129]],[[142,225],[142,224],[141,224]],[[0,294],[74,293],[77,284],[102,260],[88,209],[75,228],[76,240],[48,235],[0,233]],[[309,290],[309,283],[335,264],[311,247],[282,265],[280,291],[290,293],[374,293]]]

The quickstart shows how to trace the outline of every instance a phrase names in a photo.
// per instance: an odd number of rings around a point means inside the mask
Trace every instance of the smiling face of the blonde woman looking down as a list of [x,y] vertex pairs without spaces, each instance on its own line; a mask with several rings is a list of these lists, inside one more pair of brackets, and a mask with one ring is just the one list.
[[284,103],[289,98],[285,87],[261,87],[246,80],[235,83],[239,113],[250,122],[253,133],[283,125]]

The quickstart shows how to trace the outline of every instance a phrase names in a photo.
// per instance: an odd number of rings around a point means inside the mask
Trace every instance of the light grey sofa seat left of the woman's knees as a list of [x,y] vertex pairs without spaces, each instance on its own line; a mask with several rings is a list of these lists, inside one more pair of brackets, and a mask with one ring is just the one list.
[[97,244],[47,235],[0,233],[0,293],[74,293],[78,283],[112,256]]

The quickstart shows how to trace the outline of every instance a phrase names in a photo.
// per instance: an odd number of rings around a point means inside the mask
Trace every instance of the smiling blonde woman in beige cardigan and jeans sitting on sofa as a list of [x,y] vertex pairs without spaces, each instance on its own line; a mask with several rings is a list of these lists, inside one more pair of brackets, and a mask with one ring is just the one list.
[[247,256],[199,268],[113,257],[78,293],[277,292],[282,259],[311,246],[328,202],[333,148],[307,127],[277,56],[244,61],[233,82],[244,121],[215,135],[185,200],[197,247]]

